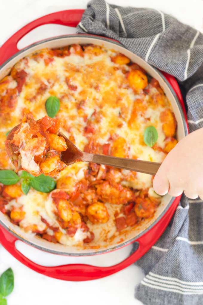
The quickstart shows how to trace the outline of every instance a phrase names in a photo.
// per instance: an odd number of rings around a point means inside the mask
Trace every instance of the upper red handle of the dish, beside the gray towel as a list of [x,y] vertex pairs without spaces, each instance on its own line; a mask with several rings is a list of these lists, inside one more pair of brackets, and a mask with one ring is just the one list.
[[76,27],[82,18],[83,12],[84,9],[70,9],[70,10],[60,11],[49,15],[45,15],[26,24],[19,31],[13,34],[0,48],[0,66],[12,55],[19,52],[19,49],[17,48],[18,41],[21,38],[23,38],[23,36],[25,36],[27,33],[29,33],[31,30],[35,29],[36,27],[39,27],[40,25],[44,25],[48,23],[55,23],[55,24],[66,25],[69,27]]

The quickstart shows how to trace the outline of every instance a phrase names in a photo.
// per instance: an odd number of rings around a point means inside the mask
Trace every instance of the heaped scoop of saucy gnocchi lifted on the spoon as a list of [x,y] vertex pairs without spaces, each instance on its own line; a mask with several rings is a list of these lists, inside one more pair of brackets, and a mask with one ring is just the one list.
[[36,121],[28,114],[24,115],[5,141],[6,152],[16,172],[25,170],[33,176],[58,176],[66,166],[60,160],[60,152],[67,149],[65,139],[58,136],[59,128],[57,119],[45,116]]

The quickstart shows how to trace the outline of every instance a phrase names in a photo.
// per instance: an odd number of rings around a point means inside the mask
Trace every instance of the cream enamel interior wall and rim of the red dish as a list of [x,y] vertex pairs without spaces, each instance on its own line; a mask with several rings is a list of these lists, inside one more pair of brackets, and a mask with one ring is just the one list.
[[[86,44],[86,43],[92,43],[95,45],[102,45],[105,48],[113,48],[115,51],[121,52],[127,57],[129,57],[133,62],[138,63],[140,66],[142,66],[148,74],[150,74],[152,77],[155,77],[158,81],[160,86],[163,88],[163,91],[166,93],[167,98],[169,99],[169,102],[173,108],[173,112],[175,114],[175,117],[177,119],[178,125],[177,125],[177,139],[180,140],[186,135],[186,129],[185,124],[183,120],[183,115],[180,111],[180,107],[177,105],[177,101],[173,96],[173,93],[171,92],[170,87],[164,81],[164,79],[159,75],[159,73],[153,69],[151,66],[149,66],[148,63],[146,63],[144,60],[136,56],[135,54],[131,53],[130,51],[126,50],[125,48],[114,44],[110,41],[105,41],[102,39],[96,39],[92,37],[83,37],[83,36],[77,36],[77,37],[63,37],[63,38],[55,38],[54,40],[42,42],[40,44],[34,45],[31,48],[28,48],[24,52],[21,52],[19,55],[11,59],[8,63],[6,63],[3,68],[0,71],[0,79],[2,79],[5,75],[7,75],[10,72],[10,69],[12,66],[21,58],[28,55],[31,52],[34,52],[35,50],[39,50],[41,48],[58,48],[63,47],[70,44]],[[156,220],[162,215],[167,208],[172,203],[172,198],[169,195],[166,195],[162,198],[162,202],[158,209],[156,210],[156,213],[152,219],[145,220],[141,225],[134,228],[128,228],[124,231],[124,233],[121,235],[117,235],[117,237],[114,238],[114,240],[104,242],[100,240],[99,236],[96,236],[94,240],[94,244],[91,244],[91,247],[88,245],[85,245],[83,249],[79,247],[73,247],[73,246],[63,246],[61,244],[53,244],[50,242],[47,242],[44,239],[40,239],[39,237],[34,236],[33,234],[24,233],[18,226],[12,224],[7,217],[5,217],[2,213],[0,213],[0,221],[5,225],[5,227],[9,228],[11,231],[15,232],[17,235],[20,236],[21,239],[24,239],[27,242],[30,242],[34,246],[37,246],[39,248],[43,248],[47,251],[54,252],[54,253],[61,253],[65,255],[82,255],[82,254],[94,254],[96,252],[101,252],[104,250],[110,250],[112,248],[118,247],[123,245],[123,243],[127,243],[132,239],[136,239],[138,235],[141,235],[147,228],[149,228],[152,224],[156,222]],[[105,224],[106,230],[112,230],[110,222]],[[108,228],[109,226],[109,228]],[[95,230],[96,228],[94,228]],[[100,248],[97,249],[96,245],[99,241]]]

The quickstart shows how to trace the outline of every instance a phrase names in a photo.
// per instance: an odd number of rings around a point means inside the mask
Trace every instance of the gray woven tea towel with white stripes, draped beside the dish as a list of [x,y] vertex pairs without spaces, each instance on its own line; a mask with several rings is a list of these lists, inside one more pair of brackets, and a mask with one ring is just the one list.
[[[156,9],[89,2],[78,33],[120,41],[184,86],[190,132],[203,127],[203,35]],[[136,247],[136,246],[135,246]],[[136,264],[145,278],[135,288],[144,304],[203,304],[203,201],[184,195],[161,238]]]

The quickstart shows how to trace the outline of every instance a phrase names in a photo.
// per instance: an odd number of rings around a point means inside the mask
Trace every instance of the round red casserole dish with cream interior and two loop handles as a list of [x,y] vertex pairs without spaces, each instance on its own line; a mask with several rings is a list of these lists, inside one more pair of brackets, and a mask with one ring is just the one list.
[[[177,85],[176,80],[166,73],[159,72],[158,70],[150,66],[148,63],[146,63],[143,59],[139,58],[127,49],[123,48],[118,42],[113,41],[111,39],[88,34],[67,36],[65,35],[61,37],[46,39],[44,41],[40,41],[33,45],[30,45],[24,48],[23,50],[18,50],[18,41],[34,28],[47,23],[55,23],[75,27],[79,23],[82,13],[83,10],[67,10],[53,13],[34,20],[33,22],[20,29],[18,32],[16,32],[0,48],[0,79],[2,79],[5,75],[9,73],[12,66],[19,59],[41,48],[57,48],[73,43],[93,43],[96,45],[103,45],[106,48],[114,48],[114,50],[128,56],[131,61],[138,63],[147,71],[147,73],[149,73],[152,77],[155,77],[159,81],[160,86],[163,88],[167,98],[171,103],[173,112],[175,113],[177,119],[177,139],[180,140],[185,135],[187,135],[187,117],[184,109],[184,102],[181,97],[180,89]],[[20,262],[25,264],[27,267],[30,267],[31,269],[47,276],[71,281],[84,281],[102,278],[117,271],[120,271],[125,267],[128,267],[130,264],[134,263],[136,260],[142,257],[142,255],[144,255],[152,247],[152,245],[157,241],[157,239],[165,230],[167,224],[173,216],[173,213],[179,201],[180,196],[177,198],[172,198],[169,195],[164,196],[160,206],[158,207],[152,219],[150,218],[149,220],[147,220],[139,228],[136,228],[136,230],[129,230],[128,234],[125,234],[122,239],[122,235],[119,235],[119,239],[115,239],[109,245],[103,245],[102,247],[100,247],[99,250],[91,249],[90,251],[88,247],[86,249],[76,249],[71,246],[51,244],[45,240],[37,239],[34,236],[28,236],[27,234],[24,234],[23,231],[19,229],[19,227],[10,223],[10,221],[2,213],[0,214],[0,242],[2,246],[4,246],[5,249],[7,249]],[[85,264],[69,264],[57,267],[44,267],[33,263],[15,248],[15,242],[18,239],[46,252],[67,256],[90,256],[100,253],[106,253],[119,249],[135,241],[138,243],[138,248],[123,262],[111,267],[95,267]]]

